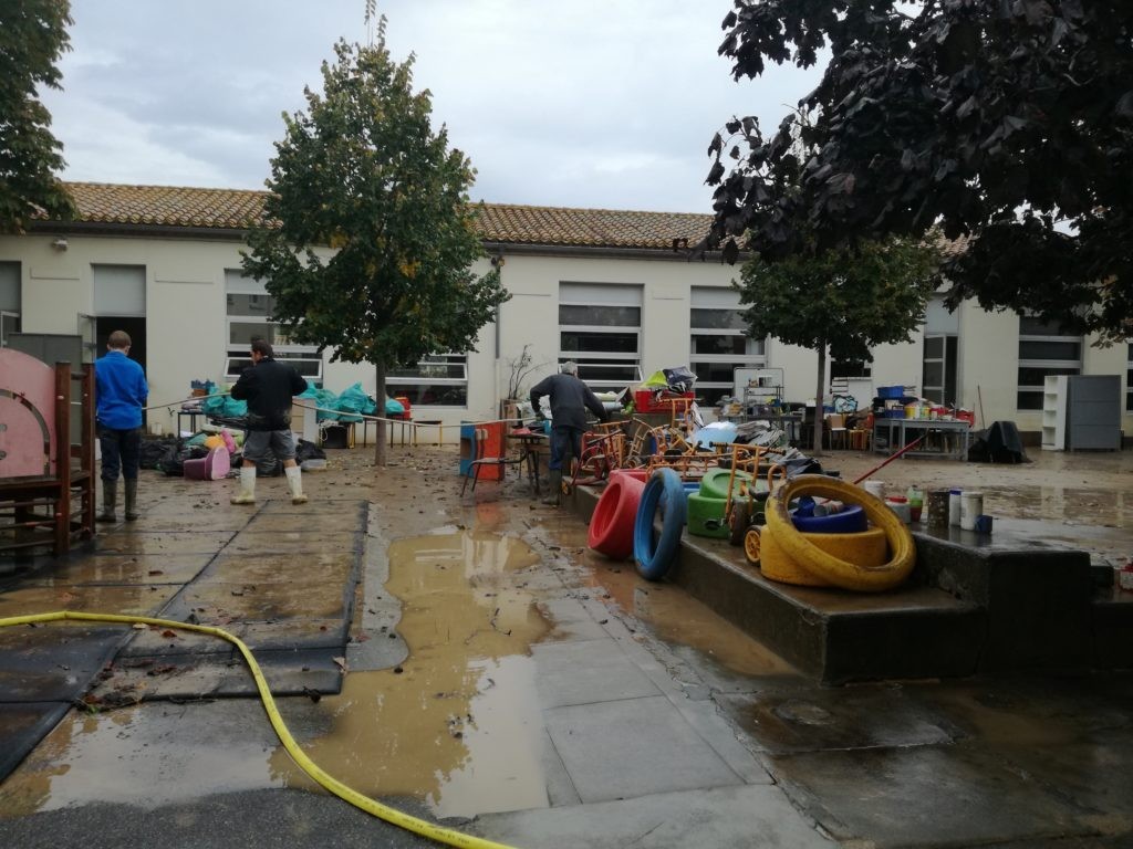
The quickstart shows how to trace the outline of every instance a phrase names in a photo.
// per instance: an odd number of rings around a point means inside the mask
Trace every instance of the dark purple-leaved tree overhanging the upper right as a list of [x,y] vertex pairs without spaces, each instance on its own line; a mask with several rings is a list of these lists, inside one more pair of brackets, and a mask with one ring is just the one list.
[[968,238],[943,267],[949,306],[1133,335],[1126,0],[734,3],[719,53],[736,79],[829,61],[774,136],[746,118],[713,139],[709,246],[774,260],[939,225]]

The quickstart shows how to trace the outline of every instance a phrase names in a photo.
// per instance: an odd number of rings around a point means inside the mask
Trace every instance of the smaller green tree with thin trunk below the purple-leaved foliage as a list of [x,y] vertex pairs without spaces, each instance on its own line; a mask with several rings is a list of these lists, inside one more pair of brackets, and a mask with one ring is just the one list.
[[815,453],[821,453],[826,352],[870,360],[874,345],[909,342],[936,288],[939,251],[903,239],[860,242],[841,250],[796,254],[768,263],[758,256],[741,272],[740,303],[748,335],[774,336],[818,352]]

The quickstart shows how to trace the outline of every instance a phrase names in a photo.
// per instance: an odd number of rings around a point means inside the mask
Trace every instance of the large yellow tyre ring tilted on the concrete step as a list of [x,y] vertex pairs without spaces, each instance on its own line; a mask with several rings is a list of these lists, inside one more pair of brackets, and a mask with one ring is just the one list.
[[[795,530],[789,513],[791,499],[804,495],[836,498],[846,504],[861,505],[870,524],[885,531],[889,542],[888,563],[868,568],[828,555],[815,546]],[[767,532],[775,535],[775,541],[784,554],[800,568],[843,590],[858,592],[892,590],[909,577],[917,563],[917,546],[912,533],[880,498],[852,483],[823,474],[800,474],[768,499]]]

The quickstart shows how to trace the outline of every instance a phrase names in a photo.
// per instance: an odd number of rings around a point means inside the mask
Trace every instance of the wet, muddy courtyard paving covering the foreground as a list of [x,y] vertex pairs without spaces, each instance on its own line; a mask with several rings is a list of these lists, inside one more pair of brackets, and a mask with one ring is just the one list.
[[[1133,535],[1133,465],[1089,457],[1101,468],[1076,486],[1073,463],[1047,483],[1038,464],[898,461],[877,477],[995,480],[988,512],[1023,505],[1020,521],[1068,544],[1113,533],[1096,555],[1117,557]],[[587,551],[585,525],[533,504],[526,484],[482,482],[461,499],[454,452],[392,460],[375,475],[368,452],[332,452],[330,471],[305,479],[307,508],[292,515],[282,480],[264,481],[250,518],[224,503],[231,482],[147,475],[142,521],[50,577],[22,573],[0,615],[176,599],[181,618],[280,657],[341,623],[341,664],[304,658],[273,681],[299,693],[280,710],[308,754],[361,792],[517,847],[1133,843],[1128,674],[816,686],[679,588]],[[824,462],[852,479],[879,460]],[[349,508],[361,503],[368,524]],[[1055,508],[1083,523],[1056,528]],[[351,571],[341,555],[355,550]],[[101,668],[50,654],[49,632],[73,627],[34,631],[42,675]],[[144,633],[95,691],[119,698],[61,717],[0,784],[5,843],[428,844],[315,788],[257,701],[218,697],[248,692],[227,650],[182,642],[203,640]],[[162,660],[170,643],[191,670]]]

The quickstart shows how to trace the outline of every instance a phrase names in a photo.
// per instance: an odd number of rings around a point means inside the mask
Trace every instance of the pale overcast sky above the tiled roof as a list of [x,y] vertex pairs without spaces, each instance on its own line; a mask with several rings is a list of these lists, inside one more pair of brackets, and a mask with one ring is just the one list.
[[[731,0],[378,0],[416,53],[491,203],[710,212],[713,134],[773,129],[818,74],[736,83],[716,55]],[[261,189],[280,113],[305,105],[365,0],[71,0],[63,91],[44,101],[69,180]]]

